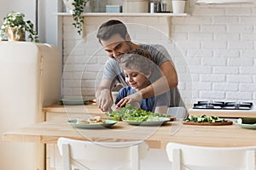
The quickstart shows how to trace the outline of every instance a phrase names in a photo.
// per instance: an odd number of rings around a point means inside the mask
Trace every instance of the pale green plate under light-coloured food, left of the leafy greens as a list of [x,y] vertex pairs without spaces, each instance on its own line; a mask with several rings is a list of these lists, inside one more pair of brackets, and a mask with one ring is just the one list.
[[100,123],[100,124],[86,124],[86,123],[77,123],[77,120],[70,120],[67,121],[69,124],[71,124],[73,127],[78,127],[78,128],[104,128],[104,127],[112,127],[117,121],[113,120],[105,120],[105,123]]

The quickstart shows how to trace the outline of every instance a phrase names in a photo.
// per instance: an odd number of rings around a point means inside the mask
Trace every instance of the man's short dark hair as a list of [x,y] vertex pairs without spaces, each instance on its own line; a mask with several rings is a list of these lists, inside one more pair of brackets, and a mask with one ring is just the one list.
[[99,27],[96,37],[101,42],[101,40],[108,40],[114,34],[119,34],[125,40],[127,28],[123,22],[119,20],[108,20]]

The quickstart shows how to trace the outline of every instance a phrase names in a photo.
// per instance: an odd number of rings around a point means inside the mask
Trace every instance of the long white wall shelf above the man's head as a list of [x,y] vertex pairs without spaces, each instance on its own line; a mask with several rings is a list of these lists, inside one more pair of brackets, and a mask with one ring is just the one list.
[[[72,16],[70,13],[56,13],[60,16]],[[173,13],[83,13],[83,16],[121,16],[121,17],[154,17],[154,16],[190,16],[190,14],[173,14]]]

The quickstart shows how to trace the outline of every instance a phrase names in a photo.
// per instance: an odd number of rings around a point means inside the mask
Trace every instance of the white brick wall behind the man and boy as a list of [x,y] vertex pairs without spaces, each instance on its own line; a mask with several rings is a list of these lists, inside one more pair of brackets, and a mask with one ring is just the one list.
[[84,39],[63,20],[63,92],[94,98],[107,54],[96,30],[110,19],[127,24],[135,42],[161,43],[172,55],[186,104],[195,100],[256,101],[256,6],[190,1],[187,17],[85,17]]

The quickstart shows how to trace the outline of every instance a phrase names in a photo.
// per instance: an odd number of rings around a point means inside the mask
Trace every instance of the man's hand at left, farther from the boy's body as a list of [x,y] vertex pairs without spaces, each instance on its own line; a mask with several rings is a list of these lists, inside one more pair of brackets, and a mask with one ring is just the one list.
[[96,100],[99,108],[102,111],[112,111],[111,106],[113,105],[113,99],[109,89],[102,89],[96,95]]

